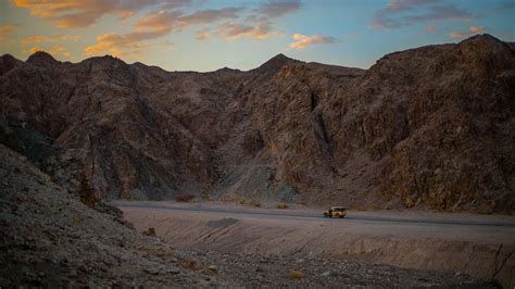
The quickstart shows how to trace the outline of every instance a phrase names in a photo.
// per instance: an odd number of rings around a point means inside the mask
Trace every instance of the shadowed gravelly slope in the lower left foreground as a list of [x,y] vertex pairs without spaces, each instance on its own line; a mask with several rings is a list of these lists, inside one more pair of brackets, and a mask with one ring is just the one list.
[[88,209],[0,144],[0,286],[230,287],[155,237]]

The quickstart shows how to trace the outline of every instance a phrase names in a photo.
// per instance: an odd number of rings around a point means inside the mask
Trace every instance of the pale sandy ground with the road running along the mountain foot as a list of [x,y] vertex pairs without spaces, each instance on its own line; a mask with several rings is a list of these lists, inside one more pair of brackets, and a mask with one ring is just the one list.
[[429,212],[349,211],[322,217],[316,208],[248,208],[198,202],[114,203],[139,230],[183,249],[248,254],[329,256],[404,268],[466,273],[515,282],[515,217]]

